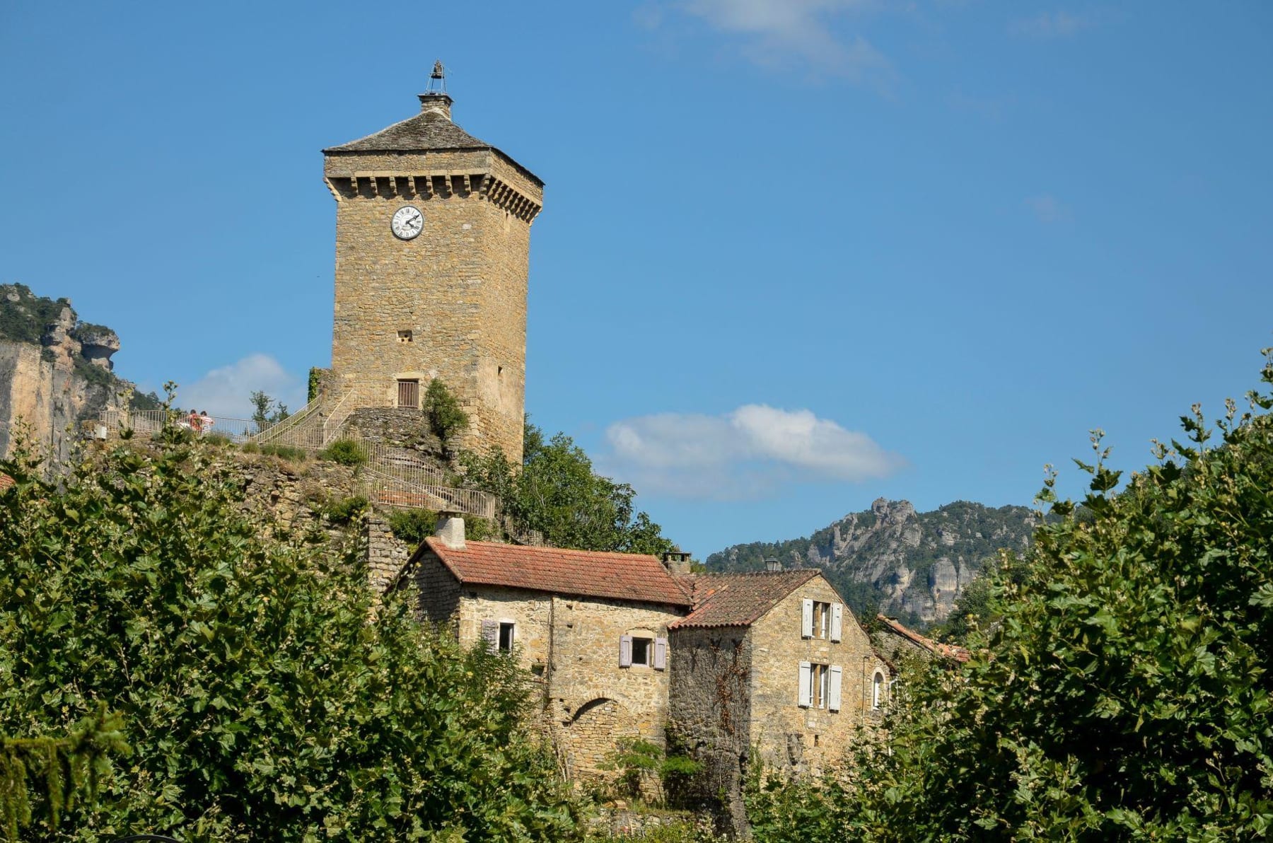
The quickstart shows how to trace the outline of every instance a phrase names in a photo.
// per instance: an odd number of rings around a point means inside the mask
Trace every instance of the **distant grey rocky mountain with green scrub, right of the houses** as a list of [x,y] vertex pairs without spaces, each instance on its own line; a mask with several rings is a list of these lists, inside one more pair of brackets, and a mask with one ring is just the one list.
[[880,498],[805,539],[735,545],[707,558],[712,570],[822,568],[859,616],[880,611],[924,627],[950,615],[955,599],[1001,548],[1025,548],[1034,530],[1026,507],[992,509],[957,500],[915,512]]

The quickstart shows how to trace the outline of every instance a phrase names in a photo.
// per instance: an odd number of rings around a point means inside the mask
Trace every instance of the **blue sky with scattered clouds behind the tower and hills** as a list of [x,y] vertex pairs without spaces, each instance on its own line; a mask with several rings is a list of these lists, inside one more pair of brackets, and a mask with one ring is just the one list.
[[1273,6],[0,8],[0,283],[236,413],[330,362],[320,149],[418,110],[541,176],[527,410],[686,549],[1150,460],[1273,345]]

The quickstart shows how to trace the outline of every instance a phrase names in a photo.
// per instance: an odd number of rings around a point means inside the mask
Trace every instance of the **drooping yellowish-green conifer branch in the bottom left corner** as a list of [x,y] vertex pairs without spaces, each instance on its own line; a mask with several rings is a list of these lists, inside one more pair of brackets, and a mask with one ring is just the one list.
[[94,800],[101,781],[112,773],[111,758],[131,751],[122,725],[118,714],[99,705],[66,737],[0,735],[0,833],[5,839],[17,840],[18,826],[32,821],[31,779],[41,782],[37,800],[51,828],[79,798]]

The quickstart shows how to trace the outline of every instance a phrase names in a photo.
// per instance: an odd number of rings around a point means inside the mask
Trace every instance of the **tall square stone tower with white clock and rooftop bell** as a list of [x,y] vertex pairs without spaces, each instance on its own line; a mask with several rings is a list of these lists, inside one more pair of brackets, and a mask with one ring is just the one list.
[[334,393],[418,407],[433,378],[466,447],[522,458],[531,223],[544,182],[451,121],[440,62],[420,113],[323,150],[336,197]]

